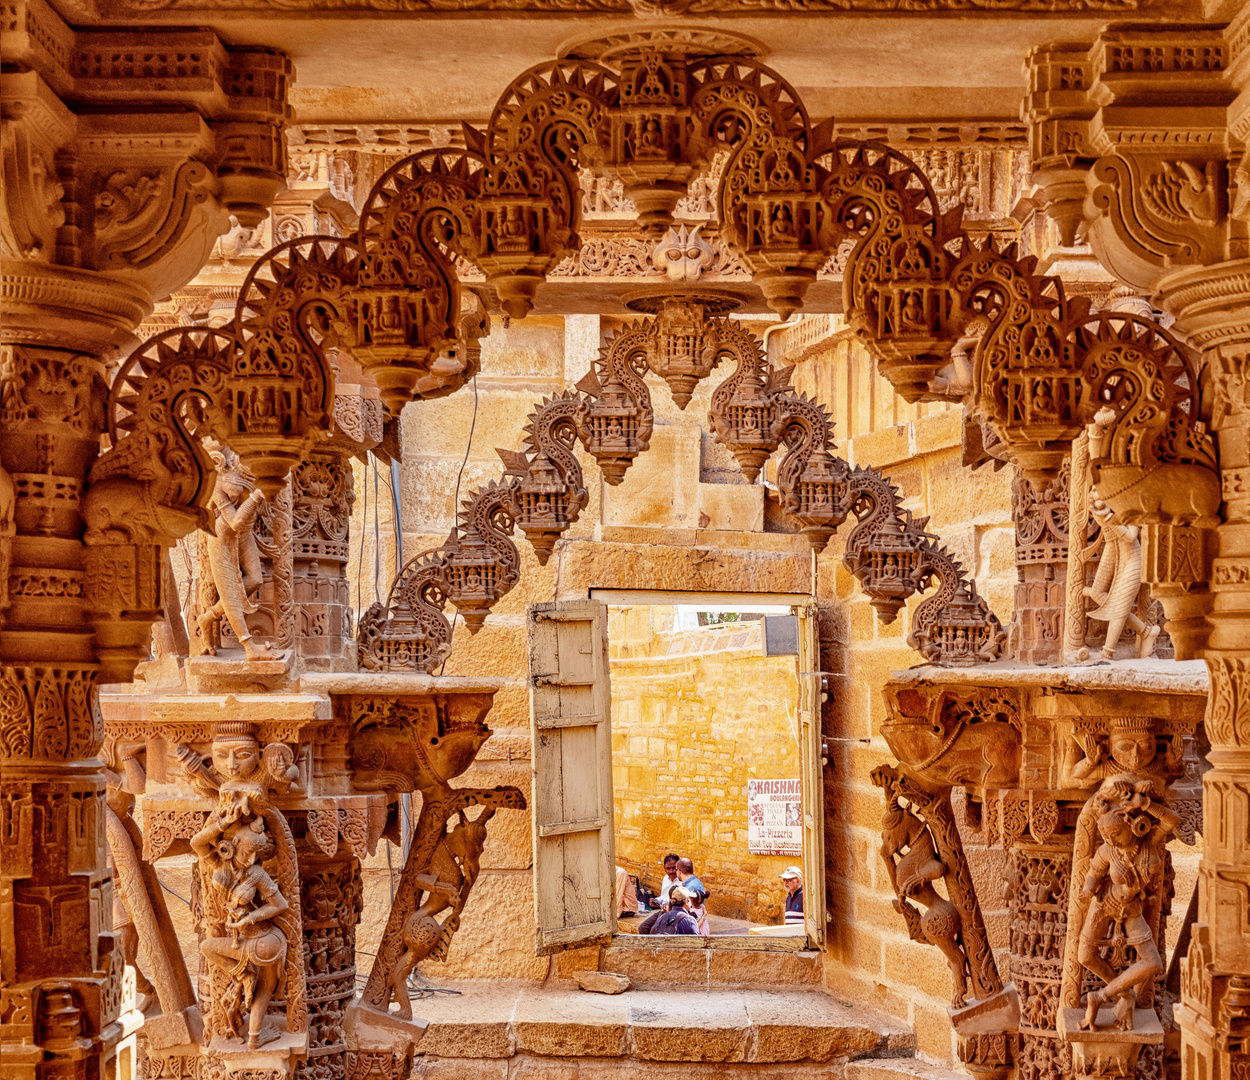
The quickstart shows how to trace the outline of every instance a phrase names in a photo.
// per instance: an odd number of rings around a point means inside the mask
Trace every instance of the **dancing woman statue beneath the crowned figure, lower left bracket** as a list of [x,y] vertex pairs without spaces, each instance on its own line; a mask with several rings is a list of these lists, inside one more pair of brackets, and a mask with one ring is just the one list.
[[200,942],[205,959],[228,978],[219,1015],[238,1038],[246,1012],[248,1048],[255,1050],[279,1036],[265,1025],[265,1012],[285,981],[288,939],[272,920],[290,905],[261,866],[261,860],[275,854],[274,842],[259,816],[240,816],[222,828],[215,814],[191,840],[191,850],[211,868],[211,886],[225,908],[224,929],[230,931]]

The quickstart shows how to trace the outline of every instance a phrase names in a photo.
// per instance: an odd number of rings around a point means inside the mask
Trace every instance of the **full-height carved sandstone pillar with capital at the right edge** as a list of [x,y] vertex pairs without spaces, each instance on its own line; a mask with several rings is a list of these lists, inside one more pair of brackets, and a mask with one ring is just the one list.
[[[1144,524],[1142,561],[1178,652],[1200,650],[1210,672],[1206,848],[1176,1019],[1185,1075],[1212,1080],[1250,1070],[1248,29],[1242,11],[1222,29],[1111,26],[1089,49],[1040,50],[1029,105],[1035,149],[1084,174],[1100,260],[1160,298],[1209,379],[1202,415],[1219,449],[1221,520]],[[1198,490],[1204,478],[1192,471]]]

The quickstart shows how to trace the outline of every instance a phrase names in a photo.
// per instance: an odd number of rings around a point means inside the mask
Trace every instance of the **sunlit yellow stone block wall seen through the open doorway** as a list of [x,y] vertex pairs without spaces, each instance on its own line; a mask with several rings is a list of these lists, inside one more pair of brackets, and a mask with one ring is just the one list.
[[780,874],[798,856],[752,855],[746,781],[799,776],[794,656],[764,656],[762,622],[669,629],[674,609],[609,609],[616,865],[651,885],[691,859],[708,910],[780,922]]

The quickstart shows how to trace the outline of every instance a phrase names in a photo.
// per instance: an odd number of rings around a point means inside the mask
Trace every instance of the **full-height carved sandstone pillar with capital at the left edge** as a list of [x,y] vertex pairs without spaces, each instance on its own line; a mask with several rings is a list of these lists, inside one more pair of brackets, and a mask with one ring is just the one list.
[[[91,469],[110,361],[154,300],[200,268],[228,212],[258,221],[280,186],[289,64],[206,30],[75,31],[46,4],[11,6],[0,45],[0,1072],[132,1075],[141,1016],[111,932],[95,688],[142,659],[171,536],[134,479],[159,470],[158,455],[122,481],[135,501],[102,516]],[[139,100],[151,106],[141,115]]]

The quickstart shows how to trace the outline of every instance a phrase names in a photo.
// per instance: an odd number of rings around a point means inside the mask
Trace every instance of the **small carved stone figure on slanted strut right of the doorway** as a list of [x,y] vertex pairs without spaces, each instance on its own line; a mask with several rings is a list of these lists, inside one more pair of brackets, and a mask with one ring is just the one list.
[[951,1008],[961,1008],[968,992],[968,958],[960,948],[962,924],[959,909],[934,888],[934,881],[946,876],[946,864],[938,858],[929,826],[892,799],[886,799],[881,820],[881,858],[898,895],[894,910],[908,918],[909,930],[912,929],[915,909],[906,901],[915,900],[925,909],[919,918],[919,930],[924,940],[936,945],[950,964],[954,981]]

